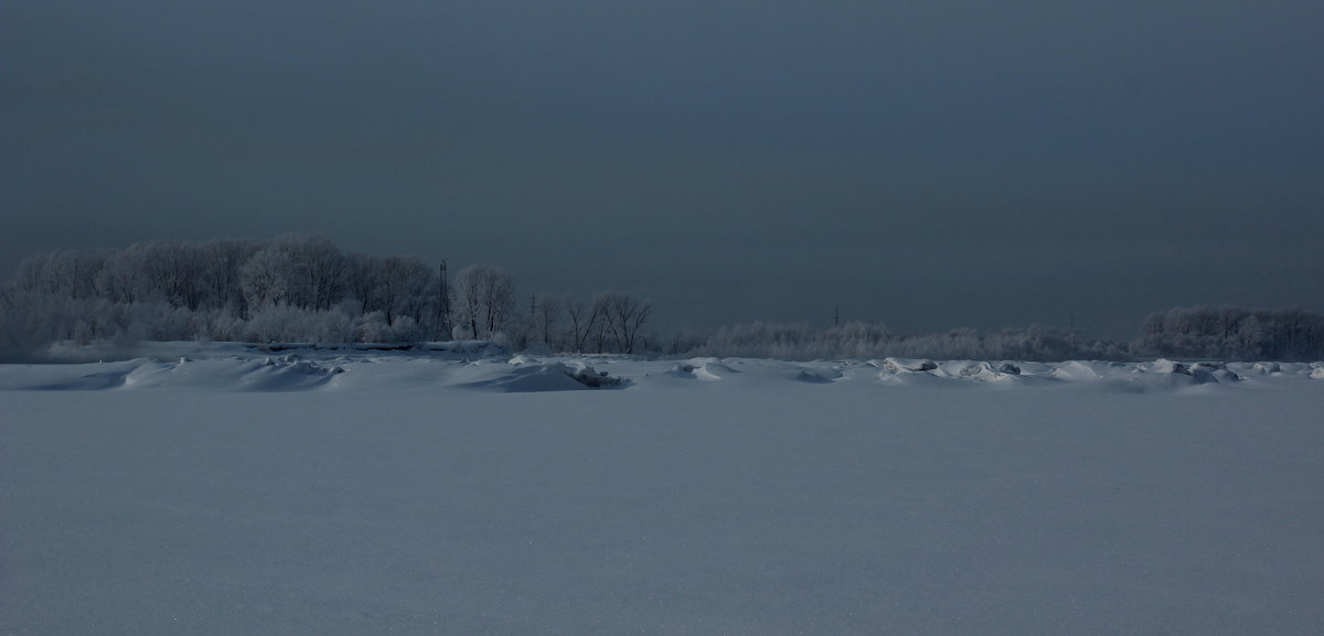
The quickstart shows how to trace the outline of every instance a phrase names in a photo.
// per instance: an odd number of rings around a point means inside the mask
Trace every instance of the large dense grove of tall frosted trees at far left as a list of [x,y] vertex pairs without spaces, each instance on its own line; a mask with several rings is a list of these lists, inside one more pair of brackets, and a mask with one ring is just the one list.
[[408,341],[441,305],[422,260],[346,257],[331,241],[303,235],[37,254],[0,298],[0,348],[9,350],[98,338],[324,342],[354,338],[363,315],[375,312],[385,328],[364,332]]

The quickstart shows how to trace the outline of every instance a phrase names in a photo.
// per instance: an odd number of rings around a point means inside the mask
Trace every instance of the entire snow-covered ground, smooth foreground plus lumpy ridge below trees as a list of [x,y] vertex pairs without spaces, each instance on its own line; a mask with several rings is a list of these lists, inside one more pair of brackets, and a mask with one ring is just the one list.
[[0,365],[0,633],[1324,625],[1317,365],[148,354]]

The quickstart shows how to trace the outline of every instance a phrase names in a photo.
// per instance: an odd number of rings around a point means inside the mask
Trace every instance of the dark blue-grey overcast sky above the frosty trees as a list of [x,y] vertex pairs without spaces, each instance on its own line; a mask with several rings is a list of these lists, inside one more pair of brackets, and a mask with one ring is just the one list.
[[0,275],[327,235],[658,327],[1324,309],[1324,3],[0,3]]

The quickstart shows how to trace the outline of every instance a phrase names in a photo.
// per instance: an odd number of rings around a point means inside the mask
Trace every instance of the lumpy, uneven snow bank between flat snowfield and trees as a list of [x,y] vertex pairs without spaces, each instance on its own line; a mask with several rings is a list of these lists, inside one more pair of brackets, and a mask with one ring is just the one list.
[[[0,365],[0,390],[136,390],[212,387],[240,391],[470,389],[500,393],[641,389],[690,385],[767,387],[781,382],[879,386],[1098,383],[1136,391],[1233,385],[1243,379],[1324,378],[1324,364],[1213,361],[1018,362],[925,358],[786,362],[759,358],[642,360],[624,356],[504,357],[477,342],[408,349],[154,345],[123,362]],[[682,382],[677,386],[686,386]]]

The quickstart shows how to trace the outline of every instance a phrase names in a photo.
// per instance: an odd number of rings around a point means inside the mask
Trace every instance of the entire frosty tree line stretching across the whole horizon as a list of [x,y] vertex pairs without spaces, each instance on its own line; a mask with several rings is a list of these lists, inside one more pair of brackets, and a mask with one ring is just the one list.
[[[445,283],[445,284],[444,284]],[[882,324],[752,323],[662,342],[653,303],[630,292],[535,295],[493,264],[441,280],[414,257],[343,253],[323,237],[150,241],[30,257],[0,288],[0,353],[53,341],[416,342],[489,340],[514,350],[789,360],[1324,358],[1324,316],[1301,308],[1182,307],[1148,316],[1131,342],[1031,325],[899,335]]]

